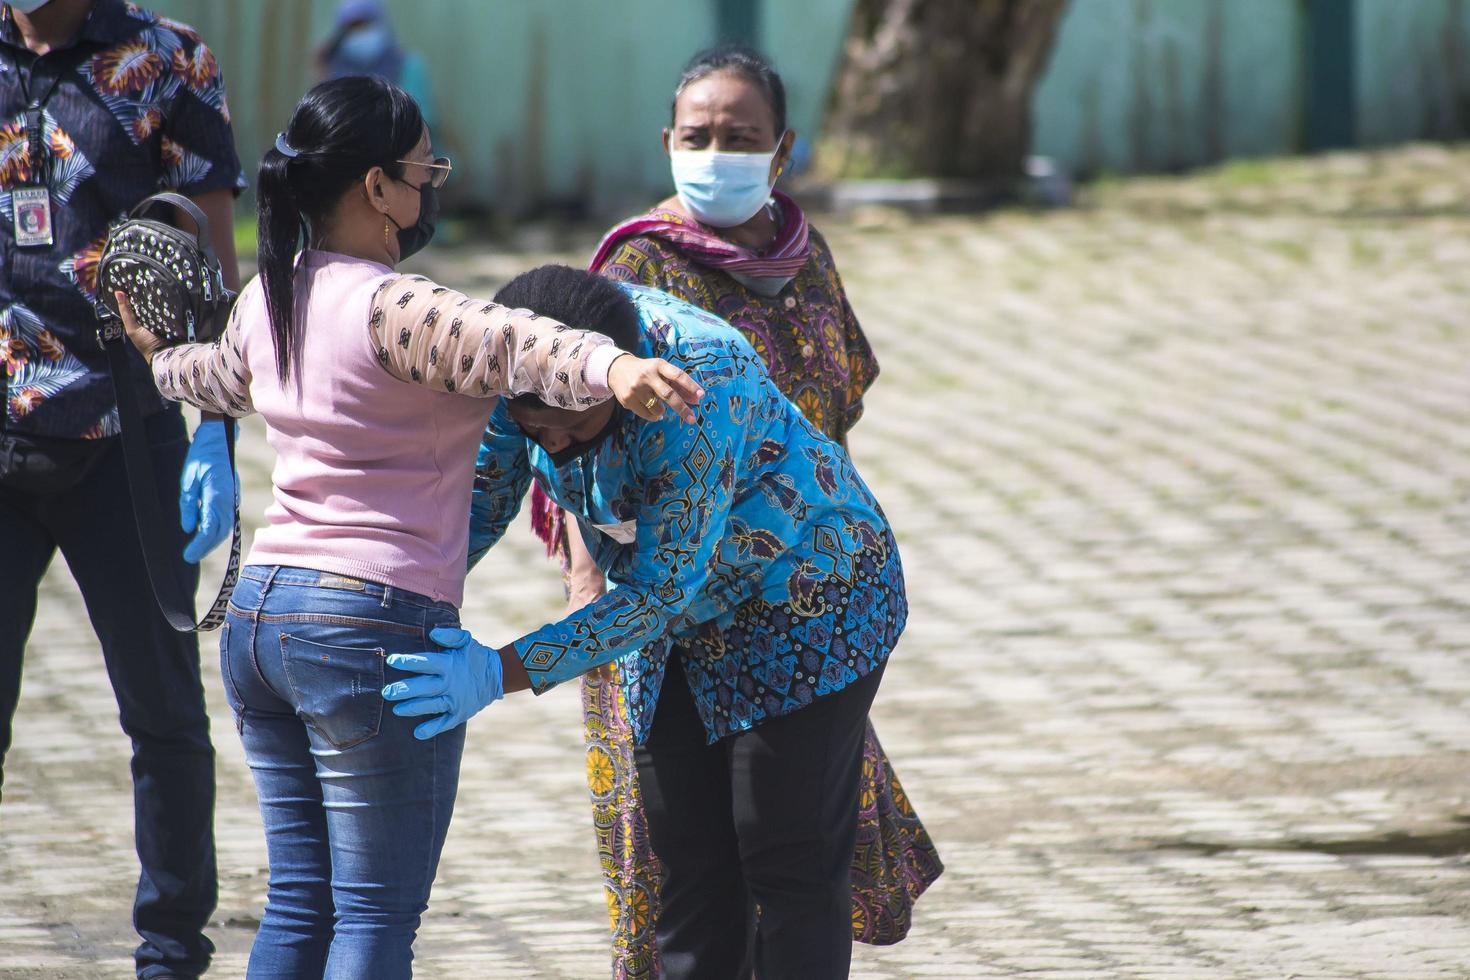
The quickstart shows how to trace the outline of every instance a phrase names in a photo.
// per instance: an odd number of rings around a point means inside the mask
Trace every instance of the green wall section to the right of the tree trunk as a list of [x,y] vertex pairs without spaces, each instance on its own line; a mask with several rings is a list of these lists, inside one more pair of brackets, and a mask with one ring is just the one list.
[[[1347,24],[1314,24],[1330,18]],[[1352,50],[1313,56],[1320,38]],[[1299,153],[1323,132],[1466,138],[1470,1],[1073,0],[1033,119],[1035,151],[1080,173]]]

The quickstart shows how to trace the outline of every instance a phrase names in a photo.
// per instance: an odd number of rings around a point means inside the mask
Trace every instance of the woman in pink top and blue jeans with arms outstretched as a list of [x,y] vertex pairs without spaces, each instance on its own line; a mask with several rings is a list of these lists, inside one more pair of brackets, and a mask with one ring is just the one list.
[[260,276],[223,336],[157,350],[119,297],[159,391],[259,411],[276,451],[275,502],[220,638],[270,858],[250,977],[410,976],[465,729],[416,739],[379,692],[403,676],[388,654],[459,624],[494,398],[616,397],[689,420],[703,397],[600,334],[395,273],[432,235],[448,172],[403,91],[323,82],[260,163]]

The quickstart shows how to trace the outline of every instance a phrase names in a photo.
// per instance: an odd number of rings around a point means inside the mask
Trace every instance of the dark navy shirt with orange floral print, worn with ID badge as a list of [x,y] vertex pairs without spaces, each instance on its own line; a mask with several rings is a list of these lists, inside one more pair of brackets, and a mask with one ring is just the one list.
[[[53,87],[54,82],[54,87]],[[46,98],[47,173],[26,140],[26,96]],[[13,192],[43,182],[54,244],[21,247]],[[97,0],[68,47],[26,50],[0,13],[0,430],[96,439],[118,432],[97,344],[97,263],[107,226],[160,190],[245,187],[219,65],[193,28]],[[141,359],[146,411],[165,407]]]

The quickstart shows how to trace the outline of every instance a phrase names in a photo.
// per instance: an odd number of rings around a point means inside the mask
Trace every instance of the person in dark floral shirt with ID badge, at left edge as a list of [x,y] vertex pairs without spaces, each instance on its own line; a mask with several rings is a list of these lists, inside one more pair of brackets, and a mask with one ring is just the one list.
[[[198,644],[168,626],[147,585],[96,339],[97,263],[113,220],[175,190],[209,216],[235,285],[243,187],[219,65],[193,28],[122,0],[0,6],[0,761],[40,579],[60,550],[132,739],[147,980],[197,977],[213,952],[201,933],[216,899],[213,749]],[[134,378],[157,485],[181,486],[178,510],[172,494],[163,504],[181,519],[178,573],[193,585],[191,561],[229,530],[223,422],[201,422],[191,447],[141,363]]]

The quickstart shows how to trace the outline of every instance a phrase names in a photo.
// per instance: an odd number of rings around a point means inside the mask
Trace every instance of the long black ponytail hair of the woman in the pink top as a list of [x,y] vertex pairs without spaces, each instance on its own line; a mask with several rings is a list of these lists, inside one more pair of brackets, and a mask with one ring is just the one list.
[[285,383],[300,356],[295,326],[295,251],[320,235],[343,194],[375,166],[403,176],[398,160],[423,138],[423,113],[413,97],[375,76],[335,78],[297,103],[282,134],[287,147],[266,150],[256,175],[260,203],[257,262],[275,341],[276,373]]

